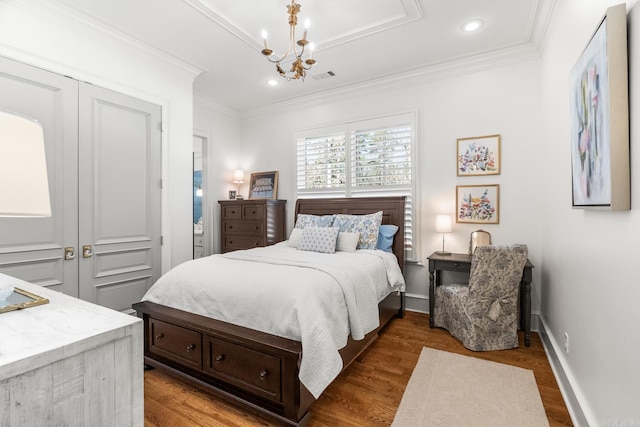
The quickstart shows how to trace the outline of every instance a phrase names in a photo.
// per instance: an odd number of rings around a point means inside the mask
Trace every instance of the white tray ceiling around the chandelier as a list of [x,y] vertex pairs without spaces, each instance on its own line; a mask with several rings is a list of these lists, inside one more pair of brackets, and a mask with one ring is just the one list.
[[[284,53],[290,0],[57,0],[203,72],[194,92],[246,111],[433,70],[539,55],[558,0],[297,0],[317,63],[286,81],[260,53]],[[460,27],[472,18],[484,26]],[[283,68],[290,64],[283,61]],[[329,72],[335,74],[329,76]],[[271,87],[269,79],[280,84]]]

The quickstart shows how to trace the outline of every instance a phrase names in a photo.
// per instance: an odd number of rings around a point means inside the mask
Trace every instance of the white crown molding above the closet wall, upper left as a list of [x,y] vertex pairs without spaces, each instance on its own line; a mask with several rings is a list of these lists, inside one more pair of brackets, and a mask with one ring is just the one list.
[[[47,0],[29,0],[28,2],[0,0],[0,3],[4,3],[28,15],[37,16],[48,23],[53,23],[73,32],[79,39],[88,39],[93,43],[109,46],[126,56],[146,62],[155,68],[189,82],[193,82],[198,75],[206,71],[202,67],[176,58],[58,2]],[[52,64],[57,64],[51,58],[46,59],[51,61]]]

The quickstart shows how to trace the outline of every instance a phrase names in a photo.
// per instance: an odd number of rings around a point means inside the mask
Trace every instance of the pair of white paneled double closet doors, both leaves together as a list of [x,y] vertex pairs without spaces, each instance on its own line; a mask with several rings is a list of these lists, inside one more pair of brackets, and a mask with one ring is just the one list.
[[160,277],[161,108],[0,57],[0,109],[42,124],[52,204],[0,218],[0,272],[131,311]]

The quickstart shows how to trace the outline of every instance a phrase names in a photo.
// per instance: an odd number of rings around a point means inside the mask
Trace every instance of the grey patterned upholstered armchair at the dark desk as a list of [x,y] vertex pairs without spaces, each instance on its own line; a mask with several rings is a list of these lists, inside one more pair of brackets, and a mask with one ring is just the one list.
[[527,262],[526,245],[476,248],[469,284],[440,285],[435,326],[473,351],[518,347],[518,288]]

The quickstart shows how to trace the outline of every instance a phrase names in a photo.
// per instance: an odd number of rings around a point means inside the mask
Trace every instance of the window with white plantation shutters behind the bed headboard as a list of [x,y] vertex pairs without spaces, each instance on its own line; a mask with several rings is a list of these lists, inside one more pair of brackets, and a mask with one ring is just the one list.
[[406,196],[405,250],[413,251],[415,113],[295,132],[298,197]]

